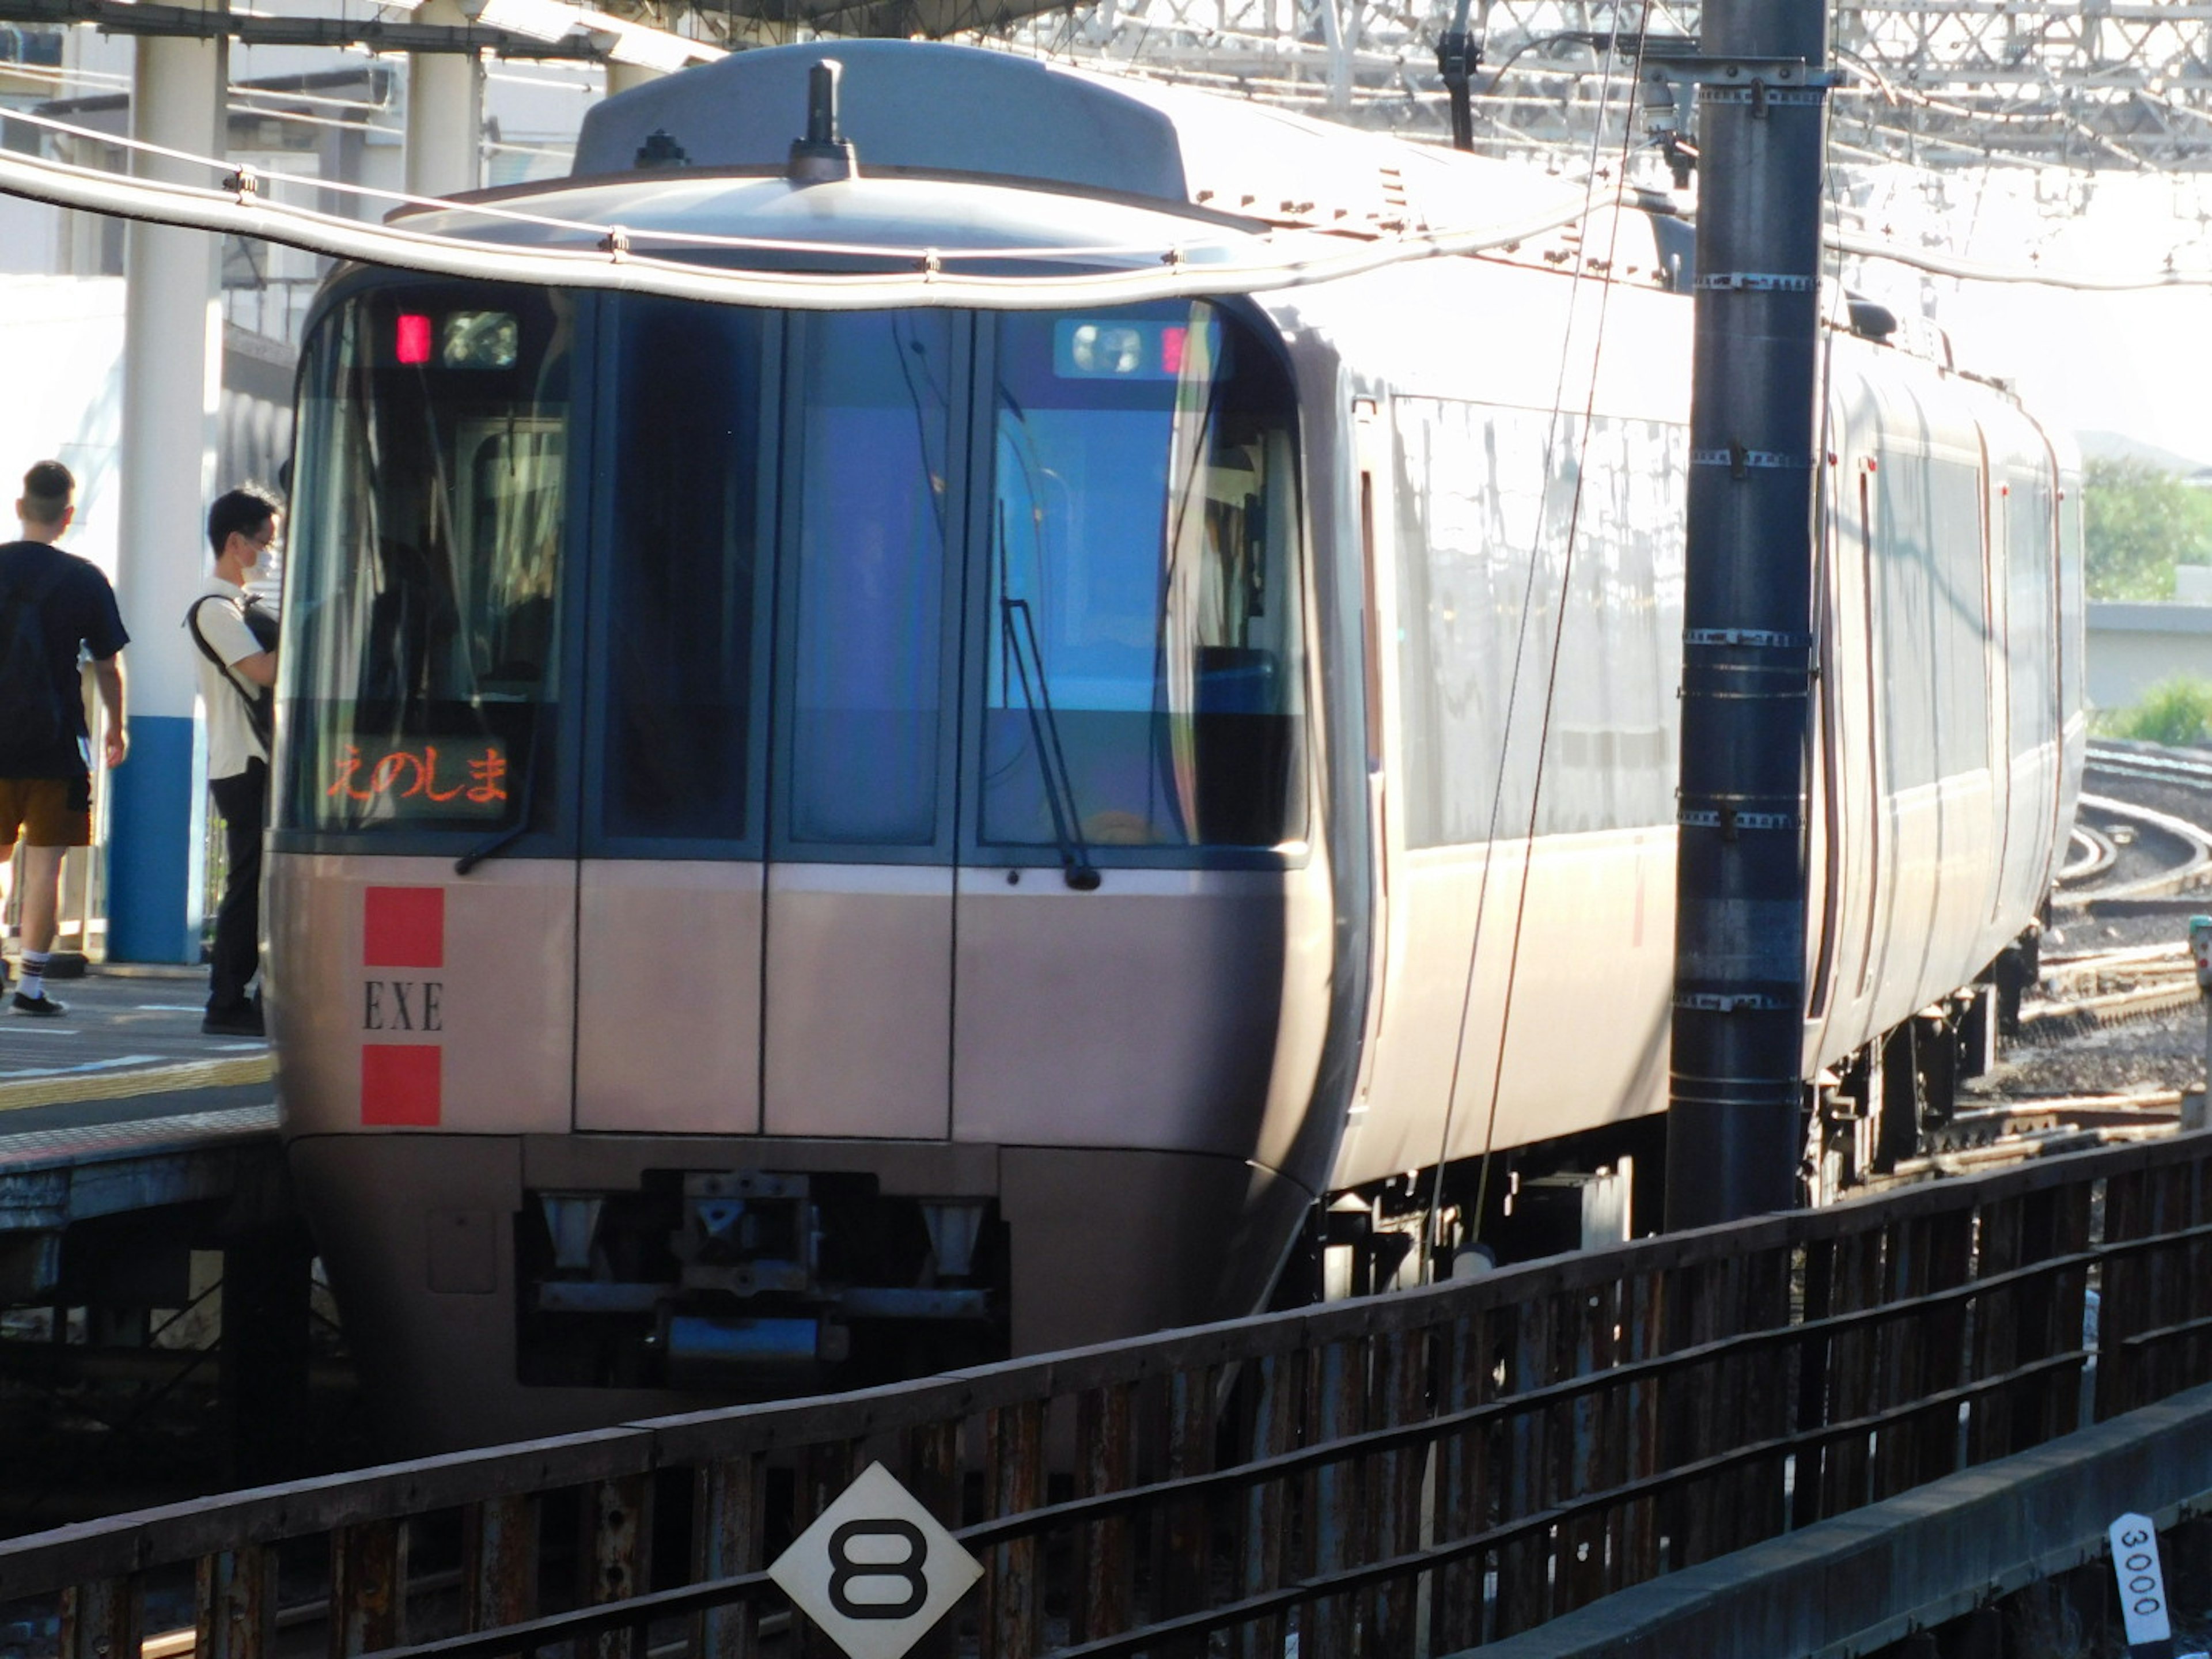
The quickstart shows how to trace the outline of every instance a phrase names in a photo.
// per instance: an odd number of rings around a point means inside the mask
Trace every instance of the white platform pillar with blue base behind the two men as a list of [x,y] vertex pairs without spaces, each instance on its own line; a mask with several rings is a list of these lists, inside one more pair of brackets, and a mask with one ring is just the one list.
[[[139,35],[133,137],[221,155],[228,42]],[[219,184],[135,155],[139,177]],[[122,522],[115,593],[131,648],[131,759],[108,781],[108,958],[197,962],[206,792],[192,648],[179,628],[208,568],[223,387],[221,241],[133,223],[124,241]]]

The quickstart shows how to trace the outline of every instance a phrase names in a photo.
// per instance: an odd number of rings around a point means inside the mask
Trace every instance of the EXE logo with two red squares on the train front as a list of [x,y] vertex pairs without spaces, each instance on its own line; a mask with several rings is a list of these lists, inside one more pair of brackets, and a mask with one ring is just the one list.
[[[445,889],[365,887],[361,894],[361,967],[442,969]],[[367,980],[361,1029],[378,1033],[445,1031],[445,980],[420,975]],[[361,1044],[361,1121],[372,1128],[436,1128],[445,1117],[445,1048],[434,1042]]]

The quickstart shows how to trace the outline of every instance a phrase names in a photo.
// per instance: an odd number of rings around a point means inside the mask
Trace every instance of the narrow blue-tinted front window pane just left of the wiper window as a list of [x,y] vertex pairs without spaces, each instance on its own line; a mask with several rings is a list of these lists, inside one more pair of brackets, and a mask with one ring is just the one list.
[[951,319],[816,316],[801,356],[787,834],[927,847],[942,770]]

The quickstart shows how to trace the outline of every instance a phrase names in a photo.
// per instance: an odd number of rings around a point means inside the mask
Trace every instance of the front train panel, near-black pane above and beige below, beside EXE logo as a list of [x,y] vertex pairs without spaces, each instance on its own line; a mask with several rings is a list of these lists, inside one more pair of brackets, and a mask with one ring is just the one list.
[[757,1133],[774,325],[606,307],[575,1126]]

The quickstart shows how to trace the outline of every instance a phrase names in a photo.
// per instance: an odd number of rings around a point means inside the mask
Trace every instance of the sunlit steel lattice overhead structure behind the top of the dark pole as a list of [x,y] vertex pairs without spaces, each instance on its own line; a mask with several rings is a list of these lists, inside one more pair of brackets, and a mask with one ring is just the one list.
[[[1475,0],[1475,146],[1564,155],[1666,133],[1686,102],[1666,64],[1694,53],[1697,13],[1694,0]],[[1091,0],[984,29],[1011,49],[1442,137],[1449,27],[1449,0]],[[2212,170],[2203,0],[1843,0],[1832,40],[1843,161]]]

